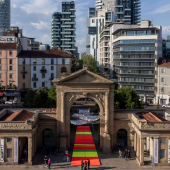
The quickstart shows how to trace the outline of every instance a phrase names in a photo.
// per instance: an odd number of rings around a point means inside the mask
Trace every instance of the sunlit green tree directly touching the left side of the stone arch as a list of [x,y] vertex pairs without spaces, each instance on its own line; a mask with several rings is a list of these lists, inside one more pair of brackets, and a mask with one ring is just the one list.
[[51,86],[50,90],[48,91],[48,107],[49,108],[56,108],[56,87]]

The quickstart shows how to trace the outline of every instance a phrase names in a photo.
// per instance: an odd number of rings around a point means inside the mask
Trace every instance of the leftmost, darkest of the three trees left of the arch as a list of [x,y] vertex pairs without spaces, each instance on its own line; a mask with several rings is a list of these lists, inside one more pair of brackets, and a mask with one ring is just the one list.
[[25,108],[33,108],[34,107],[34,104],[33,104],[33,99],[36,95],[36,91],[32,88],[28,89],[27,90],[27,94],[24,98],[24,107]]

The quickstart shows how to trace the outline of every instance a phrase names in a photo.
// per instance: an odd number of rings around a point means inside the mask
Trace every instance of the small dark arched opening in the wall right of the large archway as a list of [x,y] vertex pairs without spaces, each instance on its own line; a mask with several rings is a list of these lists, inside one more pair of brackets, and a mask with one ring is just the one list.
[[117,145],[122,147],[127,146],[127,131],[125,129],[117,131]]

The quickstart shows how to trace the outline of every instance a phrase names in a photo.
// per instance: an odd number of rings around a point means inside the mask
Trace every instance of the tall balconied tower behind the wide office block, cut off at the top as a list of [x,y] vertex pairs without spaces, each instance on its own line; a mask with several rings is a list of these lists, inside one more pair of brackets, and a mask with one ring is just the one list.
[[117,21],[126,24],[138,24],[141,19],[140,0],[98,0],[96,9],[113,11],[117,15]]

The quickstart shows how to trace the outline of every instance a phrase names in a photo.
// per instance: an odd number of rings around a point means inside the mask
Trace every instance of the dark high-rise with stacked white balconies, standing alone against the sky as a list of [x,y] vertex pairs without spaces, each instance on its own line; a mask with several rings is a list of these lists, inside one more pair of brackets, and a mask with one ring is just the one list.
[[62,2],[62,12],[55,12],[52,15],[52,48],[76,52],[75,11],[74,1]]

